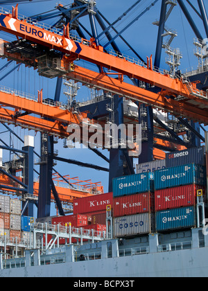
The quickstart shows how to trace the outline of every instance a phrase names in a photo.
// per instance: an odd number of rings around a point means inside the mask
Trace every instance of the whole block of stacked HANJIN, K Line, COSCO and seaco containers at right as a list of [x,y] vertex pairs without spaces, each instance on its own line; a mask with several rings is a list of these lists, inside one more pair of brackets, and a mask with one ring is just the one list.
[[114,237],[195,227],[198,191],[205,201],[204,147],[137,165],[137,175],[113,182]]

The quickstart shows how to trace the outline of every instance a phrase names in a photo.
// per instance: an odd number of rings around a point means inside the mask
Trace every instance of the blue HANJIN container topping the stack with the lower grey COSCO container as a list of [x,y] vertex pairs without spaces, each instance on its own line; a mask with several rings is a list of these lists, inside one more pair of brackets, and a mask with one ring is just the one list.
[[146,193],[154,190],[154,174],[142,173],[113,179],[113,196]]

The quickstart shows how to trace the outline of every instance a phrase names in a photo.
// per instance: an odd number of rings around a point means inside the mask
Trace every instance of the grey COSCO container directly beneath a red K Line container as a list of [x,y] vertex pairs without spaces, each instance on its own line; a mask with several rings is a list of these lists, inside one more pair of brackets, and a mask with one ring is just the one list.
[[114,237],[136,236],[155,231],[155,215],[142,213],[114,218]]

